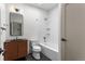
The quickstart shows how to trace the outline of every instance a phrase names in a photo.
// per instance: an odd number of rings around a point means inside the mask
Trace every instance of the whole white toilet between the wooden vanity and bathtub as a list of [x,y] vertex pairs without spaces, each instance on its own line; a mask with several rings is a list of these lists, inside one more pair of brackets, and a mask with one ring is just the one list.
[[32,56],[36,60],[40,60],[41,59],[40,56],[41,47],[38,44],[38,41],[36,40],[31,41],[31,44],[32,44]]

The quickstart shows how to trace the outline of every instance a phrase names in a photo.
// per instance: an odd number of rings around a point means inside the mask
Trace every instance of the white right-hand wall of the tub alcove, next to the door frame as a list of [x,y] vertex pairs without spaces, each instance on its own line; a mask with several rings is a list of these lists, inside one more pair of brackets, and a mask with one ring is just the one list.
[[[54,46],[57,46],[57,59],[61,60],[61,47],[60,47],[60,16],[61,16],[61,4],[58,4],[58,7],[55,7],[52,11],[49,11],[48,20],[51,21],[49,23],[49,28],[51,28],[51,42]],[[51,43],[51,44],[52,44]]]

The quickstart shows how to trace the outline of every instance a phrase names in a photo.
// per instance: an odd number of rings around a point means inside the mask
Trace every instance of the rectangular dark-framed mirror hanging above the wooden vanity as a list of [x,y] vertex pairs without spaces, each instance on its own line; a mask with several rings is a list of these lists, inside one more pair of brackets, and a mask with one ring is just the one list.
[[23,15],[17,13],[10,13],[10,35],[23,35]]

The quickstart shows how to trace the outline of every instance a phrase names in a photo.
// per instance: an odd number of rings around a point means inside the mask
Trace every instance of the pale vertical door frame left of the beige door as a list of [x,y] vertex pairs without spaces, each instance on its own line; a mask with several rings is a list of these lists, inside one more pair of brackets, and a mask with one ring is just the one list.
[[[67,5],[68,5],[69,3],[62,3],[61,4],[61,38],[65,38],[65,39],[67,39],[67,29],[66,29],[66,12],[67,12],[67,10],[66,10],[66,8],[67,8]],[[63,25],[63,36],[62,36],[62,22],[65,23],[65,25]],[[62,43],[65,43],[65,51],[63,51],[63,53],[65,53],[65,55],[63,55],[63,60],[62,60],[62,49],[61,49],[61,61],[66,61],[66,42],[67,41],[61,41],[61,48],[62,48]]]

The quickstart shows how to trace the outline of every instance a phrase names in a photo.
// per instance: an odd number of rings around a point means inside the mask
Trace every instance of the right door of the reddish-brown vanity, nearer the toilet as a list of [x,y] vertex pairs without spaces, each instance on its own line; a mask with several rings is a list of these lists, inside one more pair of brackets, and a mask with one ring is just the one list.
[[27,41],[20,40],[18,41],[18,59],[27,55]]

